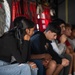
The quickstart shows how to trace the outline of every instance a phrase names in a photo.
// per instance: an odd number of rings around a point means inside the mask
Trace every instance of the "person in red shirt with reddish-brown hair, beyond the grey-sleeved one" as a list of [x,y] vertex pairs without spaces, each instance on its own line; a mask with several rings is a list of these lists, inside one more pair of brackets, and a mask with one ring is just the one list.
[[73,49],[73,47],[72,47],[72,45],[70,44],[70,42],[69,42],[69,37],[71,36],[71,33],[72,33],[72,31],[71,31],[71,25],[70,24],[66,24],[65,25],[65,35],[67,36],[67,41],[65,42],[65,44],[66,44],[66,47],[67,47],[67,53],[69,54],[69,55],[71,55],[72,56],[72,66],[73,66],[73,73],[75,74],[75,52],[74,52],[74,49]]

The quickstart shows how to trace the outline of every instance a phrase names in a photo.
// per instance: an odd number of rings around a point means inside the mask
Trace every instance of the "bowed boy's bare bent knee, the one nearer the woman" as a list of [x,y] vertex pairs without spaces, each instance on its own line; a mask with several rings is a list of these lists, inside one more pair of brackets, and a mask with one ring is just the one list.
[[46,75],[53,75],[56,66],[57,66],[56,62],[54,60],[51,60],[46,69]]

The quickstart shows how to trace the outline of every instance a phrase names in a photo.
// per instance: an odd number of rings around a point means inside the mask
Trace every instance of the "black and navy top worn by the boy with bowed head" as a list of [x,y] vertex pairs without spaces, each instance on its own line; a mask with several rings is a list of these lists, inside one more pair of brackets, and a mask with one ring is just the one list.
[[43,54],[49,53],[52,59],[57,63],[61,63],[62,58],[53,50],[51,41],[47,40],[45,35],[38,31],[31,37],[31,53],[32,54]]

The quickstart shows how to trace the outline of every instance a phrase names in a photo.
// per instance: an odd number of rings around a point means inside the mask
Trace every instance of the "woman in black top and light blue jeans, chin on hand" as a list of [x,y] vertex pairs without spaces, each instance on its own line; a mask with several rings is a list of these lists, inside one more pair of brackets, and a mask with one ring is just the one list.
[[[28,62],[34,23],[25,17],[17,17],[14,26],[0,37],[0,75],[37,75],[36,64]],[[16,60],[14,64],[11,64],[12,56]]]

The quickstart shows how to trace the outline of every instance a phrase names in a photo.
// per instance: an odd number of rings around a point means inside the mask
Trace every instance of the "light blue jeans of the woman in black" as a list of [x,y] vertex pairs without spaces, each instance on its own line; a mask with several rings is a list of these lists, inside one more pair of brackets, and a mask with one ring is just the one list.
[[37,75],[37,68],[33,70],[28,64],[8,64],[0,61],[0,75]]

